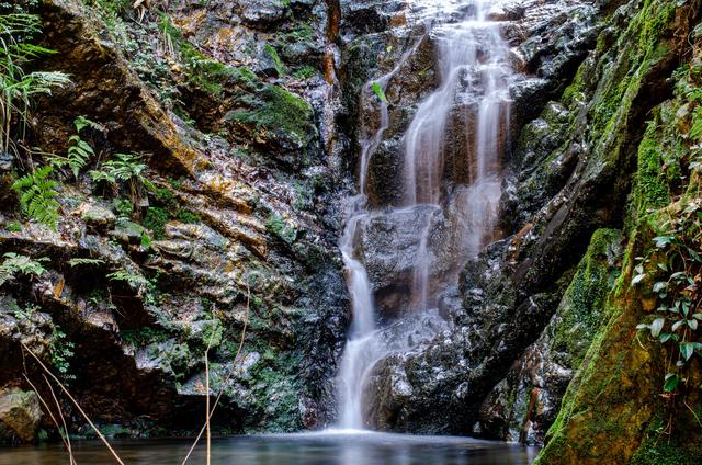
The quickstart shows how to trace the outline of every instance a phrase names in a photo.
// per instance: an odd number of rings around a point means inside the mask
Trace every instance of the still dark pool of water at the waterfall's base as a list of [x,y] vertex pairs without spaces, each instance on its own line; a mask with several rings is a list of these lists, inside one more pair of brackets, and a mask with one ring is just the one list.
[[[186,441],[116,441],[127,465],[176,465],[185,456]],[[75,442],[79,465],[112,465],[114,460],[97,441]],[[214,440],[215,465],[526,465],[534,449],[466,438],[410,436],[380,433],[304,433],[237,436]],[[58,445],[0,450],[0,465],[64,465]],[[204,463],[202,447],[189,462]]]

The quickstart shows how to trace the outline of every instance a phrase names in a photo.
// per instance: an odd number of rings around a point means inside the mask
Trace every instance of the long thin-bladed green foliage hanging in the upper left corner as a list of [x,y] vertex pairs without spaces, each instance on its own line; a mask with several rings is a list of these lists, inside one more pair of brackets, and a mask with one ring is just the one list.
[[29,61],[53,53],[30,43],[39,33],[37,15],[0,14],[0,151],[10,150],[15,131],[24,135],[33,98],[69,82],[63,72],[25,72]]

